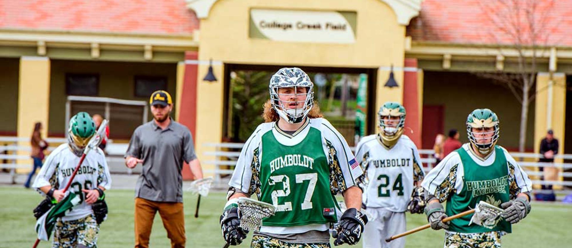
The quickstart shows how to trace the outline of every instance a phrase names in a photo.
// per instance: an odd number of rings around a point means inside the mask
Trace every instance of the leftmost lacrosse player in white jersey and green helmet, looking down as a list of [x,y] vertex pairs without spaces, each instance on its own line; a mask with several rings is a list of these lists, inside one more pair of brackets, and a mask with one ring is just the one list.
[[[67,143],[58,146],[46,158],[33,187],[47,198],[34,210],[36,218],[41,217],[65,196],[63,189],[69,183],[74,169],[90,139],[96,133],[96,126],[88,113],[77,113],[70,119]],[[53,247],[97,247],[100,223],[107,215],[104,201],[105,190],[111,187],[111,177],[104,152],[97,146],[82,162],[72,180],[69,190],[80,196],[80,203],[55,224]]]

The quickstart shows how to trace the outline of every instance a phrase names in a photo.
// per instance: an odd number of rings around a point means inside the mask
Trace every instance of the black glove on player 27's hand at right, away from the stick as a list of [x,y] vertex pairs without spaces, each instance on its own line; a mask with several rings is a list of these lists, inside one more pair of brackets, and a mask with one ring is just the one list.
[[340,224],[337,226],[336,232],[332,235],[336,240],[333,245],[339,246],[343,243],[355,245],[362,237],[364,226],[367,224],[367,216],[357,209],[351,208],[345,210],[341,215]]

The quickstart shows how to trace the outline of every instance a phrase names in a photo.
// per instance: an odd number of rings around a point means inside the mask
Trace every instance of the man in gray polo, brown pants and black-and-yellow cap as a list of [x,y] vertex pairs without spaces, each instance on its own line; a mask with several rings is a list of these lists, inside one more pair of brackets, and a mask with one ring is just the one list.
[[189,129],[169,117],[173,109],[169,93],[155,91],[149,103],[153,121],[137,127],[125,154],[127,167],[143,164],[135,189],[135,247],[149,247],[157,211],[171,247],[185,247],[181,170],[187,162],[195,179],[201,179],[201,165]]

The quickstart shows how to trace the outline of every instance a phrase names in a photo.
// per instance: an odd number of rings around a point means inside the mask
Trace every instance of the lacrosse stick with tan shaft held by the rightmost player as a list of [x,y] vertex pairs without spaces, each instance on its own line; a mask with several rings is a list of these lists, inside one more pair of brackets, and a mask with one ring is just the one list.
[[[444,218],[443,222],[449,222],[452,221],[453,219],[458,219],[473,213],[474,215],[471,218],[471,223],[475,223],[477,225],[481,225],[480,223],[490,224],[492,221],[496,223],[496,221],[498,221],[498,219],[501,218],[502,209],[492,206],[486,202],[480,201],[479,203],[476,204],[475,209],[467,210],[464,211],[463,213],[455,214],[453,216]],[[390,238],[386,239],[386,242],[390,242],[396,238],[401,238],[403,236],[416,233],[424,229],[428,229],[429,227],[431,227],[431,224],[426,224],[420,227],[416,227],[415,229],[411,229],[409,231],[406,231],[405,233],[400,233],[398,235],[391,236]]]

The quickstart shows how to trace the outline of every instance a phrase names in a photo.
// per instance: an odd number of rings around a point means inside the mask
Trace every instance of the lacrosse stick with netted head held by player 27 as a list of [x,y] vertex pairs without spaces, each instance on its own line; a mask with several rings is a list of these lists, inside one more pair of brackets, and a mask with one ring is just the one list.
[[[276,207],[266,202],[256,201],[248,197],[239,198],[240,227],[244,230],[259,230],[262,219],[274,215]],[[224,245],[228,248],[229,243]]]

